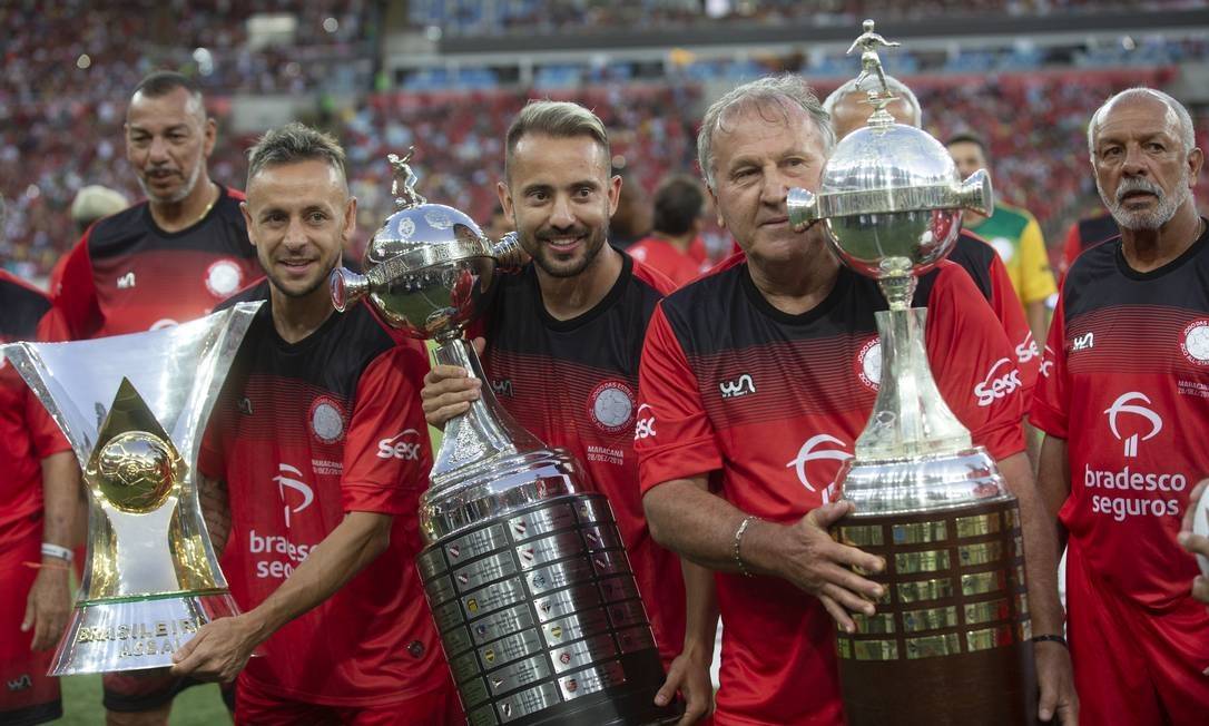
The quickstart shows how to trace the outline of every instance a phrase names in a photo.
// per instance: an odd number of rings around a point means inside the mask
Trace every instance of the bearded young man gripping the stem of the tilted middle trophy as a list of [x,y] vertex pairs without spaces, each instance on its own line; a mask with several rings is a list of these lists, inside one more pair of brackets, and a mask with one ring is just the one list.
[[[603,123],[580,105],[536,102],[513,121],[499,197],[533,261],[498,281],[481,330],[484,369],[508,411],[569,449],[609,497],[670,667],[659,698],[681,690],[688,724],[708,709],[716,617],[686,617],[693,566],[682,577],[679,558],[650,538],[634,454],[642,332],[672,284],[607,241],[621,186],[609,157]],[[480,385],[462,368],[435,367],[423,391],[428,421],[464,413]]]

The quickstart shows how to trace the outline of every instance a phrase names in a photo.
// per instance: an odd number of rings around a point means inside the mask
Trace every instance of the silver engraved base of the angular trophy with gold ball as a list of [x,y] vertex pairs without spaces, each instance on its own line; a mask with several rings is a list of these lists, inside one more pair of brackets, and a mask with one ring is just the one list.
[[226,589],[138,595],[76,605],[50,675],[172,666],[172,653],[206,623],[239,615]]

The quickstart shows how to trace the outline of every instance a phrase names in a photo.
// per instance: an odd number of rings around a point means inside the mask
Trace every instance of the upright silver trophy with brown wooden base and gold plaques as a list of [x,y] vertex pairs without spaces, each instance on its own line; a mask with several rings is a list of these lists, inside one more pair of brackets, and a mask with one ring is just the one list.
[[821,220],[838,255],[878,280],[881,381],[840,472],[856,512],[832,534],[886,560],[886,595],[839,633],[849,724],[1024,724],[1036,714],[1020,517],[995,461],[949,410],[924,347],[916,276],[949,253],[961,211],[989,214],[990,180],[962,182],[936,139],[893,122],[873,33],[861,81],[875,110],[823,167],[818,194],[789,192],[792,223]]

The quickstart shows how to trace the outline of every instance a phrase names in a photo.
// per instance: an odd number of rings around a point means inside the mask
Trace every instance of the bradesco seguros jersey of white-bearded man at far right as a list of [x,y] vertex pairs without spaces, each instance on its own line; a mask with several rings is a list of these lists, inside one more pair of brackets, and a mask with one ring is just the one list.
[[1075,260],[1032,421],[1066,439],[1059,518],[1084,566],[1152,611],[1186,600],[1198,570],[1175,535],[1209,474],[1209,235],[1145,273],[1120,240]]

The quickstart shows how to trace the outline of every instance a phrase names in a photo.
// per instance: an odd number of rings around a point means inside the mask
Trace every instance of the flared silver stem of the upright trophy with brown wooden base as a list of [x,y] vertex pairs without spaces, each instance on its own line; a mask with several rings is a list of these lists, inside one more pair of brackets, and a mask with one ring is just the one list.
[[903,459],[970,449],[970,431],[941,398],[927,364],[927,310],[886,310],[875,317],[881,335],[881,384],[873,415],[856,439],[856,457]]

